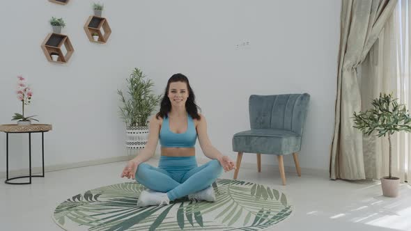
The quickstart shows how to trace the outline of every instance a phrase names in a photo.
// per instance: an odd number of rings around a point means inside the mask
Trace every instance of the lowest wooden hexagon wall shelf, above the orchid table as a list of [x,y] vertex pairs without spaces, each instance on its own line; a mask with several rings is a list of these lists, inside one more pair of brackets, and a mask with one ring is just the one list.
[[[73,51],[75,51],[68,36],[60,33],[49,33],[42,42],[41,48],[47,60],[55,63],[67,63]],[[58,54],[59,58],[53,61],[52,54]]]

